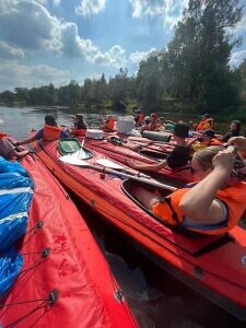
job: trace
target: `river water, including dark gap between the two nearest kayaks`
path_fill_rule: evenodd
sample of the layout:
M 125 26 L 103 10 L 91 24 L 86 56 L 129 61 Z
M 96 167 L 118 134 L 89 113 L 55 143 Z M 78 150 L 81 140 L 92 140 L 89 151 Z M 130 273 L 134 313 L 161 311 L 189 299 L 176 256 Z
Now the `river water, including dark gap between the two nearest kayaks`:
M 31 129 L 44 125 L 46 114 L 56 115 L 58 124 L 70 126 L 68 108 L 0 107 L 0 129 L 17 140 Z M 84 114 L 91 126 L 98 122 L 97 113 Z M 174 118 L 172 118 L 174 119 Z M 219 308 L 185 286 L 138 253 L 120 234 L 74 199 L 142 328 L 243 328 L 245 323 Z M 236 280 L 236 277 L 235 277 Z M 124 327 L 124 323 L 122 323 Z M 75 327 L 74 327 L 75 328 Z

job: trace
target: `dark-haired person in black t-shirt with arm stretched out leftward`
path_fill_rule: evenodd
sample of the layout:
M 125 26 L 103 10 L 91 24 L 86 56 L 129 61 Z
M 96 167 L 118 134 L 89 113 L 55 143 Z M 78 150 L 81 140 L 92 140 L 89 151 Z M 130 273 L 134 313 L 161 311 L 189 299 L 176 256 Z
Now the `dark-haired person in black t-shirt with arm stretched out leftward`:
M 186 143 L 185 138 L 188 137 L 189 127 L 185 122 L 176 124 L 174 127 L 173 138 L 176 142 L 174 149 L 166 156 L 166 159 L 157 164 L 136 165 L 133 162 L 128 161 L 128 165 L 139 171 L 156 172 L 165 166 L 171 168 L 179 168 L 185 166 L 190 160 L 190 150 Z

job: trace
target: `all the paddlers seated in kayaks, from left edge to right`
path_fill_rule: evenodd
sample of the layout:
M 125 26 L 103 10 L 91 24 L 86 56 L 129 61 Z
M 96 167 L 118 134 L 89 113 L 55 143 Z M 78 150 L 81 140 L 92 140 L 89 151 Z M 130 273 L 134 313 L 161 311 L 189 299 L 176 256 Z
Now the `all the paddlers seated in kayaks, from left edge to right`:
M 115 124 L 113 118 L 109 116 L 103 121 L 102 128 L 105 131 L 110 130 L 108 127 L 112 128 L 113 122 Z M 151 115 L 150 118 L 152 122 L 160 124 L 156 115 Z M 140 125 L 139 118 L 136 117 L 136 124 Z M 75 115 L 72 128 L 67 131 L 57 125 L 52 115 L 46 115 L 44 128 L 28 139 L 11 144 L 2 133 L 0 136 L 0 155 L 8 159 L 21 156 L 27 153 L 26 150 L 19 149 L 22 144 L 40 139 L 48 141 L 71 136 L 81 137 L 84 136 L 86 128 L 83 116 L 80 114 Z M 138 199 L 169 225 L 179 224 L 187 229 L 218 234 L 235 226 L 246 209 L 244 178 L 241 177 L 236 181 L 234 179 L 233 184 L 231 179 L 233 175 L 236 175 L 238 167 L 245 168 L 243 156 L 246 151 L 246 138 L 238 136 L 241 124 L 237 120 L 232 121 L 230 131 L 219 137 L 214 134 L 212 128 L 212 118 L 208 114 L 203 115 L 191 133 L 197 138 L 192 137 L 190 141 L 188 138 L 190 136 L 189 125 L 179 121 L 173 125 L 174 147 L 164 161 L 152 165 L 136 165 L 132 161 L 126 161 L 129 166 L 139 171 L 159 171 L 165 166 L 176 169 L 187 163 L 191 164 L 196 181 L 192 186 L 174 191 L 162 200 L 151 199 L 148 189 L 141 188 L 136 191 L 139 192 Z M 234 149 L 232 150 L 227 145 L 234 145 Z M 124 142 L 124 147 L 134 150 L 130 142 Z M 235 152 L 235 148 L 237 152 Z M 160 150 L 162 151 L 163 148 L 160 147 Z M 236 159 L 237 164 L 238 159 L 241 162 L 237 167 L 235 166 Z

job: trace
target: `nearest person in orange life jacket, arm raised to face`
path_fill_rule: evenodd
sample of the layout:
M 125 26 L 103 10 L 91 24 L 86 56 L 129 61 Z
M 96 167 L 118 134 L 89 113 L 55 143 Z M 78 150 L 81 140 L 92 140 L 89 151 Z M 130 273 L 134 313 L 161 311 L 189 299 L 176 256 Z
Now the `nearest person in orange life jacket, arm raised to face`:
M 134 196 L 167 225 L 210 235 L 232 230 L 246 210 L 246 183 L 227 184 L 234 168 L 232 150 L 206 148 L 195 153 L 191 165 L 196 184 L 162 199 L 142 187 Z

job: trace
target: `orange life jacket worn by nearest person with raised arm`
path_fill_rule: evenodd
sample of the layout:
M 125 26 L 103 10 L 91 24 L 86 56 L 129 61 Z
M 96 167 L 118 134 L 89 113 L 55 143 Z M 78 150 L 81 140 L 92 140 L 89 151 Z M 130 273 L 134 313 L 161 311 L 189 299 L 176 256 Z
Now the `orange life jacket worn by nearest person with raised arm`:
M 163 201 L 156 202 L 152 207 L 153 213 L 162 219 L 166 224 L 177 226 L 184 221 L 184 213 L 179 208 L 179 202 L 183 196 L 188 192 L 190 188 L 183 188 L 174 191 L 171 196 L 166 197 Z M 232 230 L 239 221 L 245 211 L 245 195 L 246 183 L 238 183 L 235 186 L 230 186 L 216 192 L 216 198 L 222 200 L 229 210 L 229 220 L 226 226 L 214 230 L 197 230 L 189 229 L 202 234 L 216 235 L 226 233 Z

